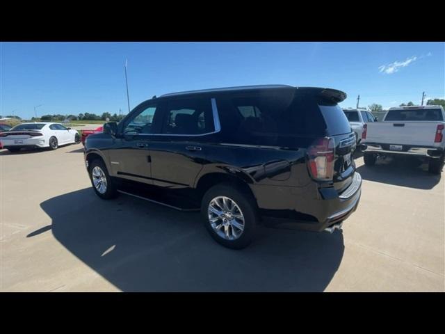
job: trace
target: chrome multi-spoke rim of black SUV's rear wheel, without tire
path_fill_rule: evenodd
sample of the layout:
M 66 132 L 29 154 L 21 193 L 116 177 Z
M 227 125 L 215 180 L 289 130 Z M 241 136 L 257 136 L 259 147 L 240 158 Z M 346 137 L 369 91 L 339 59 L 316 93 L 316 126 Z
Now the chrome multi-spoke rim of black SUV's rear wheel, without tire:
M 231 198 L 226 196 L 213 198 L 207 213 L 211 227 L 223 239 L 235 240 L 243 234 L 243 212 Z

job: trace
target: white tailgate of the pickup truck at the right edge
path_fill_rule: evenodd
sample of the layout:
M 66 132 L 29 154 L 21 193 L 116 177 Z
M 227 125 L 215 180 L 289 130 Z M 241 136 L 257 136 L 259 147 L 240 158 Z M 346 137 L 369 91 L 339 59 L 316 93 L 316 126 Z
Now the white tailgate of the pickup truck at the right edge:
M 364 143 L 439 146 L 434 143 L 437 125 L 443 122 L 370 122 Z

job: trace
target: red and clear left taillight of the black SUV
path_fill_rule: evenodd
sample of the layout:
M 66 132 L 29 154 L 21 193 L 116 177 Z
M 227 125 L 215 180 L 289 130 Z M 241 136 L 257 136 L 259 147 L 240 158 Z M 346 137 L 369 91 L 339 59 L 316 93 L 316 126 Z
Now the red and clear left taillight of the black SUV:
M 334 176 L 334 150 L 333 138 L 316 139 L 307 149 L 307 166 L 309 173 L 316 180 L 328 181 Z

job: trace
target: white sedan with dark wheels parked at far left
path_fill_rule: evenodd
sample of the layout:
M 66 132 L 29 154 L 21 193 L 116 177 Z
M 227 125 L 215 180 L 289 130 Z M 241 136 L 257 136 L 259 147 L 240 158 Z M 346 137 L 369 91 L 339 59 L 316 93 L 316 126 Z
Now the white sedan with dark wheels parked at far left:
M 81 136 L 70 127 L 58 123 L 35 122 L 16 125 L 8 132 L 0 133 L 3 148 L 18 152 L 22 148 L 50 148 L 60 145 L 80 143 Z

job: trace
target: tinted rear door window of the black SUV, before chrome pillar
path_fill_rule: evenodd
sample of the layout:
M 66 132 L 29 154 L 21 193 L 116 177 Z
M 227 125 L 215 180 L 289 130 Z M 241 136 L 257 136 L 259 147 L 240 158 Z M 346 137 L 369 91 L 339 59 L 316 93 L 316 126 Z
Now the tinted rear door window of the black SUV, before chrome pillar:
M 167 103 L 163 134 L 206 134 L 215 131 L 210 99 Z

